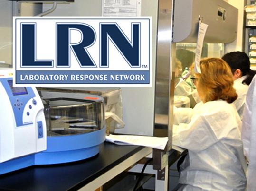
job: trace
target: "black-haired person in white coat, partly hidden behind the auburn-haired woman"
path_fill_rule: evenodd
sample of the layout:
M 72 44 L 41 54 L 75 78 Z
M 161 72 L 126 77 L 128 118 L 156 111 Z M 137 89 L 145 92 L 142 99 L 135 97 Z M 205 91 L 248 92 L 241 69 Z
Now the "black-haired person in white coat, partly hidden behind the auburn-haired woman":
M 238 95 L 234 104 L 242 119 L 248 86 L 256 71 L 250 69 L 250 59 L 245 52 L 229 52 L 225 54 L 222 59 L 226 61 L 231 68 L 234 79 L 234 88 Z

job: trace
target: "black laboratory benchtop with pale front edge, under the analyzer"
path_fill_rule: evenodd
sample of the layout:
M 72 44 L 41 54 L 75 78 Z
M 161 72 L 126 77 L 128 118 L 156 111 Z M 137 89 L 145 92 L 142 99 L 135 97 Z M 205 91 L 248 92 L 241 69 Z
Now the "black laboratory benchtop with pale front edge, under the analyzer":
M 0 190 L 93 191 L 120 174 L 152 148 L 104 142 L 98 155 L 61 165 L 38 165 L 0 175 Z

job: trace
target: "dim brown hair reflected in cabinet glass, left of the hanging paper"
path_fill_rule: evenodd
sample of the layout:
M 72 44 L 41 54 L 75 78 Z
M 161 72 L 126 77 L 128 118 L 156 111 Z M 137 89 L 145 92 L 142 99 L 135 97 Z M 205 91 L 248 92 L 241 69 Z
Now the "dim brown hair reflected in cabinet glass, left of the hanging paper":
M 177 49 L 176 58 L 182 63 L 182 70 L 186 67 L 190 68 L 191 64 L 195 61 L 195 53 L 186 49 Z

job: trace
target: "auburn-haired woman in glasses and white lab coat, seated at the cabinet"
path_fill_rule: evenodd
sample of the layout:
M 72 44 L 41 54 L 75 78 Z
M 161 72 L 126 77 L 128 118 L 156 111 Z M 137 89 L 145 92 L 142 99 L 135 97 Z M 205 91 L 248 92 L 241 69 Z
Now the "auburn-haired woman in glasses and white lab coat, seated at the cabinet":
M 246 161 L 232 73 L 219 58 L 200 61 L 192 77 L 202 102 L 174 108 L 173 145 L 188 149 L 178 191 L 245 191 Z

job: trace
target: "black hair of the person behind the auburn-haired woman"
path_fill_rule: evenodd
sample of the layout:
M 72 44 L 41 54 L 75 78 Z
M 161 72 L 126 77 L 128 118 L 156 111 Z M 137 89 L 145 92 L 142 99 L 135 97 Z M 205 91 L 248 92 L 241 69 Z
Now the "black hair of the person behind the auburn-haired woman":
M 245 52 L 229 52 L 222 57 L 222 60 L 228 63 L 232 73 L 240 69 L 242 76 L 247 75 L 247 78 L 242 82 L 243 84 L 249 85 L 251 83 L 256 71 L 250 69 L 250 58 Z

